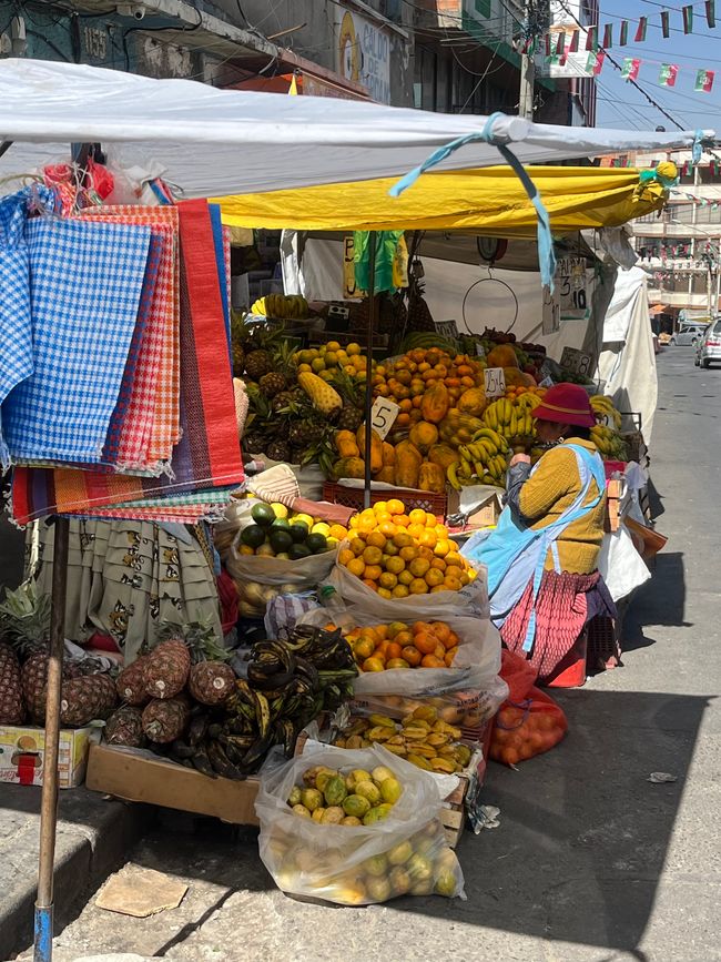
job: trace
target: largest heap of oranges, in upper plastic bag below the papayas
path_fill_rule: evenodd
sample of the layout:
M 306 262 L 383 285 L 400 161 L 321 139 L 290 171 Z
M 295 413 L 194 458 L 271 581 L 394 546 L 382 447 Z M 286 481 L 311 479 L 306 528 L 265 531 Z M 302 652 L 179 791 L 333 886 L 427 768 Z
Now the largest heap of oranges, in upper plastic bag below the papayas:
M 338 563 L 382 598 L 459 591 L 475 577 L 435 515 L 378 502 L 351 518 Z

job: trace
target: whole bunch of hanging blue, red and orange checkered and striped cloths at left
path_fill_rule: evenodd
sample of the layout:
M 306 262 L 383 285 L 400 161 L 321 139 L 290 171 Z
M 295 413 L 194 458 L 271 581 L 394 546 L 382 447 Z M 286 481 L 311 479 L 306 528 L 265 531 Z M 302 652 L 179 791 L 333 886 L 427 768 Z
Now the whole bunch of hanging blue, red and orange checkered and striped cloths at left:
M 12 514 L 194 524 L 243 482 L 220 212 L 0 201 L 0 458 Z

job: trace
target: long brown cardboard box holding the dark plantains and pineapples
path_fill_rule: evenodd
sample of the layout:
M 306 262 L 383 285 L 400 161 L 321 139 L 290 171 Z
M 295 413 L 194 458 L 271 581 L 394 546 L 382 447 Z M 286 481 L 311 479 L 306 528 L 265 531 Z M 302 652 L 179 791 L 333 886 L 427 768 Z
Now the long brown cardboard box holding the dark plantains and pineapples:
M 260 780 L 209 778 L 200 771 L 133 748 L 93 745 L 85 787 L 128 801 L 214 816 L 238 826 L 257 826 Z

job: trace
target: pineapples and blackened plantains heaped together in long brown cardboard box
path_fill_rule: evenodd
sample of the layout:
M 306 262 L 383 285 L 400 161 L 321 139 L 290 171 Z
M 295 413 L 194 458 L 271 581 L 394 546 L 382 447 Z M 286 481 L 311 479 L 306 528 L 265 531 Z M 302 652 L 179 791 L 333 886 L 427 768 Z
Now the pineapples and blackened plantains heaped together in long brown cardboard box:
M 148 745 L 204 774 L 244 779 L 274 745 L 293 755 L 298 731 L 353 692 L 357 668 L 339 631 L 297 628 L 287 641 L 258 642 L 247 679 L 207 632 L 169 635 L 119 675 L 109 745 Z

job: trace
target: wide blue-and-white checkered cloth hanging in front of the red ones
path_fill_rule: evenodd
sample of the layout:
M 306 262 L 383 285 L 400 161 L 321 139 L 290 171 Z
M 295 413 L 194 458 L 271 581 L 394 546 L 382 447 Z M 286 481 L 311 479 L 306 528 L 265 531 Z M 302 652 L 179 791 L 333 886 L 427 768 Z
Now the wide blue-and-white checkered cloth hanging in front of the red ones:
M 150 237 L 149 226 L 27 221 L 34 371 L 2 405 L 13 460 L 100 460 Z

